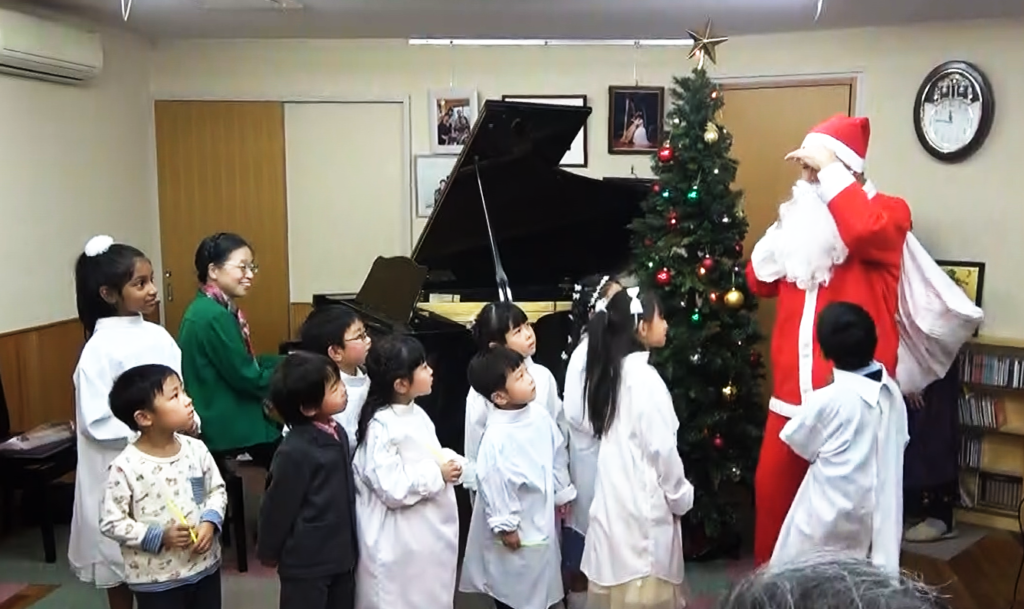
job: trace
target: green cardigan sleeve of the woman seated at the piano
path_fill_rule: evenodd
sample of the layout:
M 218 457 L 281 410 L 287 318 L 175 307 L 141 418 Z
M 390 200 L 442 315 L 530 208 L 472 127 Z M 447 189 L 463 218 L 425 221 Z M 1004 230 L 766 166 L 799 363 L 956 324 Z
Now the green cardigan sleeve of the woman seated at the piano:
M 207 328 L 197 333 L 197 341 L 220 378 L 243 395 L 266 397 L 275 365 L 261 365 L 249 353 L 238 321 L 227 311 L 208 319 Z

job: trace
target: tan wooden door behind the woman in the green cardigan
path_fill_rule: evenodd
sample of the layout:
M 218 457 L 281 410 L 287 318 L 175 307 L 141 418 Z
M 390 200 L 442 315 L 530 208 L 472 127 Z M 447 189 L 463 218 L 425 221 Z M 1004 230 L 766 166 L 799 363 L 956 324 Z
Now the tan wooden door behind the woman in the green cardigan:
M 155 115 L 167 329 L 177 335 L 195 297 L 200 241 L 237 232 L 260 267 L 240 303 L 253 347 L 276 353 L 289 321 L 284 104 L 157 101 Z

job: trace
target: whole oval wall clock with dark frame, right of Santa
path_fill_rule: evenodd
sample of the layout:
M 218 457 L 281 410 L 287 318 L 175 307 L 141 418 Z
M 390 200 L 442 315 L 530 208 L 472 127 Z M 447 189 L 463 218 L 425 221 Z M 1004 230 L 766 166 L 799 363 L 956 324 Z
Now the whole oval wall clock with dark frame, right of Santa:
M 967 61 L 946 61 L 928 73 L 913 102 L 918 140 L 943 163 L 958 163 L 977 153 L 994 118 L 992 86 Z

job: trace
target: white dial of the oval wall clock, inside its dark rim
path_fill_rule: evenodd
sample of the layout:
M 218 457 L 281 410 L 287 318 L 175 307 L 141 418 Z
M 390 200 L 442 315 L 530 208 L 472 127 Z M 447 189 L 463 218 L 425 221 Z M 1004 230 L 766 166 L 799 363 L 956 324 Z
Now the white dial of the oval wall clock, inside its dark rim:
M 981 127 L 981 92 L 967 74 L 950 71 L 933 80 L 921 105 L 921 125 L 928 142 L 940 153 L 955 153 Z

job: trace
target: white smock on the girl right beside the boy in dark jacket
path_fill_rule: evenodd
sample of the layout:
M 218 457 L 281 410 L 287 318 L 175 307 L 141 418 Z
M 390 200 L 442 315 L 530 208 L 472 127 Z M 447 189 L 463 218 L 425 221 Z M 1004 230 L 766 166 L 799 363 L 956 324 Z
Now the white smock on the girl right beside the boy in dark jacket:
M 355 449 L 356 609 L 442 609 L 455 600 L 459 509 L 441 448 L 420 406 L 378 410 Z

